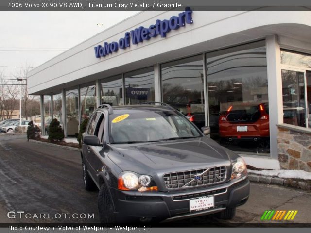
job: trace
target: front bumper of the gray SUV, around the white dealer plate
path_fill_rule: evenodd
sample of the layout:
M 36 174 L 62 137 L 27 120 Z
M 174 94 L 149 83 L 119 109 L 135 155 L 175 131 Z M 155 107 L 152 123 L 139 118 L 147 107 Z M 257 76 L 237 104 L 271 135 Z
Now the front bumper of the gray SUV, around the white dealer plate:
M 212 187 L 200 187 L 172 192 L 131 192 L 111 188 L 115 214 L 120 222 L 171 221 L 217 213 L 226 208 L 244 204 L 249 197 L 247 178 L 230 181 Z M 214 207 L 189 211 L 190 199 L 214 196 Z

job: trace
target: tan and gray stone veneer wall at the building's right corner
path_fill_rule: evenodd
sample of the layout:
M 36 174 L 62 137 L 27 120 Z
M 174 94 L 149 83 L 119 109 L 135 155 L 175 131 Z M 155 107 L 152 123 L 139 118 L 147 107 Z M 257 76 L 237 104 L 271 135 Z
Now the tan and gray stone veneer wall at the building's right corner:
M 279 124 L 277 129 L 277 151 L 281 169 L 311 172 L 311 130 L 289 124 Z

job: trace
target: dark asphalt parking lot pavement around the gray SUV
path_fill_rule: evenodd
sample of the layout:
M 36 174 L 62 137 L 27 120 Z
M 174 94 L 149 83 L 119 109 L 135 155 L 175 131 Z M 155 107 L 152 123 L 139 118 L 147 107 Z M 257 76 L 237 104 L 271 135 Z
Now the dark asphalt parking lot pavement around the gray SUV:
M 0 222 L 98 222 L 97 194 L 83 188 L 78 151 L 27 142 L 25 135 L 0 137 Z M 291 222 L 311 222 L 311 193 L 276 185 L 251 183 L 248 202 L 228 223 L 258 223 L 265 210 L 298 210 Z M 8 219 L 8 211 L 34 214 L 69 213 L 66 219 Z M 93 214 L 73 219 L 72 214 Z M 77 217 L 77 215 L 74 215 Z M 82 215 L 83 217 L 84 215 Z M 69 218 L 70 217 L 70 218 Z M 203 216 L 182 223 L 202 225 Z M 285 221 L 283 221 L 285 222 Z M 175 222 L 178 223 L 178 222 Z

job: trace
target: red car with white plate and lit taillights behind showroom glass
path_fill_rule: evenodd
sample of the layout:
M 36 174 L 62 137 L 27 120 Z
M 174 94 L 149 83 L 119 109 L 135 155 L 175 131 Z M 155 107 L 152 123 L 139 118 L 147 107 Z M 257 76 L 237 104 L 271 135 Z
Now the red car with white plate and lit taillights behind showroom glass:
M 230 105 L 218 122 L 222 141 L 269 141 L 268 103 Z

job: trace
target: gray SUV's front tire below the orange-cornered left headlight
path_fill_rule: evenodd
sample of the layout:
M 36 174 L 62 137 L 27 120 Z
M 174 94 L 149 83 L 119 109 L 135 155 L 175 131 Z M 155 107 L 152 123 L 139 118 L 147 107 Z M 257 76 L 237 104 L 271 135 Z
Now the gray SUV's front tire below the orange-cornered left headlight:
M 101 223 L 115 223 L 113 203 L 106 185 L 102 185 L 98 193 L 98 212 Z

